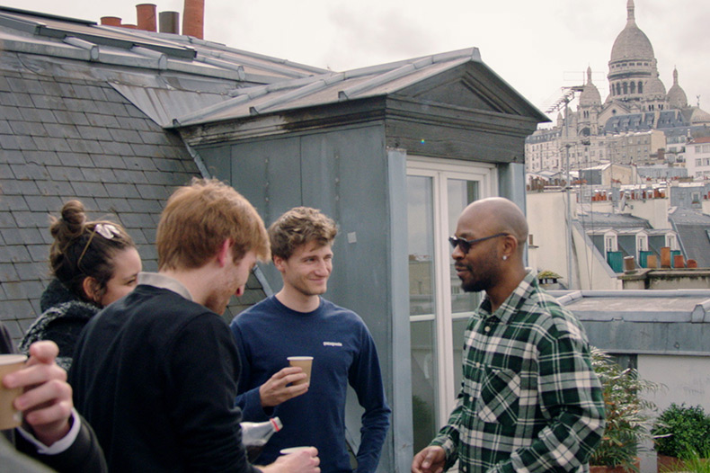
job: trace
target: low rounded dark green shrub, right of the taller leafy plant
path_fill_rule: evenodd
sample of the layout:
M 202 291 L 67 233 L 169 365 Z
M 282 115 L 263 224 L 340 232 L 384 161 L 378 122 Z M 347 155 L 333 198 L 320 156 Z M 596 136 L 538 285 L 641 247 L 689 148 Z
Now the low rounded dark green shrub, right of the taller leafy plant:
M 710 415 L 702 406 L 671 404 L 661 412 L 651 433 L 659 455 L 682 458 L 691 452 L 710 452 Z

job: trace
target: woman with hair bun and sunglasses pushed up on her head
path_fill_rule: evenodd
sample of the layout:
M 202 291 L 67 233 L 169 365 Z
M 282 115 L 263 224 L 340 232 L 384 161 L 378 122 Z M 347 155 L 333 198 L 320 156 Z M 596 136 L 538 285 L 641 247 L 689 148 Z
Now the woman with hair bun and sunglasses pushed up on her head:
M 128 294 L 142 265 L 136 245 L 118 223 L 86 221 L 84 204 L 67 201 L 61 218 L 51 217 L 49 267 L 54 279 L 42 293 L 42 315 L 30 326 L 20 350 L 38 340 L 59 346 L 57 363 L 69 370 L 84 325 L 101 308 Z

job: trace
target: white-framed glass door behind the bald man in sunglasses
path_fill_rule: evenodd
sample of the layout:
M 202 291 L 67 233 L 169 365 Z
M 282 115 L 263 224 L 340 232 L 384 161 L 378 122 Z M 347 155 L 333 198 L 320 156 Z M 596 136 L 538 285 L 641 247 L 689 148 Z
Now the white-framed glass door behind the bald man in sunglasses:
M 470 202 L 495 195 L 495 167 L 407 162 L 414 452 L 446 423 L 461 384 L 466 321 L 479 295 L 460 289 L 448 236 Z

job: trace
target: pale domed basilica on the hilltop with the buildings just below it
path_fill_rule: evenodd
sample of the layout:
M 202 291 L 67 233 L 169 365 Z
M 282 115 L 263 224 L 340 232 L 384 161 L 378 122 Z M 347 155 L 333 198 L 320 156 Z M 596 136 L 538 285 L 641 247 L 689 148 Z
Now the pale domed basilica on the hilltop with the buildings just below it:
M 604 102 L 591 68 L 584 85 L 567 88 L 555 127 L 538 129 L 526 140 L 528 173 L 566 169 L 568 158 L 571 169 L 605 163 L 682 165 L 685 143 L 694 132 L 707 130 L 710 114 L 688 105 L 678 69 L 666 92 L 651 40 L 636 24 L 634 0 L 627 0 L 626 26 L 611 48 L 607 77 Z M 564 106 L 572 93 L 579 94 L 576 112 Z

